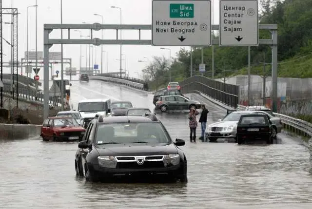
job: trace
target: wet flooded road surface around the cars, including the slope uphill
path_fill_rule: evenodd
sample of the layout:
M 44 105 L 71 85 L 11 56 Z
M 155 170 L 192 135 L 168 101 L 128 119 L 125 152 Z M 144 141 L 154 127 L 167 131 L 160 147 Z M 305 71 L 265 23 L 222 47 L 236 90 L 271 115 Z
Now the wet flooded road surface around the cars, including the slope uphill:
M 73 82 L 72 101 L 122 99 L 154 108 L 152 94 L 91 81 Z M 209 108 L 209 121 L 225 111 L 198 95 Z M 75 107 L 76 105 L 76 107 Z M 187 185 L 101 184 L 76 177 L 78 143 L 43 142 L 40 137 L 0 141 L 1 209 L 311 209 L 312 164 L 298 141 L 242 145 L 189 142 L 186 114 L 157 114 L 188 159 Z M 197 128 L 197 135 L 200 129 Z M 282 135 L 283 136 L 283 135 Z M 283 143 L 285 140 L 285 143 Z

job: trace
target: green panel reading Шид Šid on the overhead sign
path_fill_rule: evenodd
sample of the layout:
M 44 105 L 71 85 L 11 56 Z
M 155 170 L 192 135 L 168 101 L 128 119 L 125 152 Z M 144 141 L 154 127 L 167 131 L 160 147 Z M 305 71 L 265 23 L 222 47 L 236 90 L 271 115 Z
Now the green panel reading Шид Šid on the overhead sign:
M 171 3 L 170 18 L 194 18 L 194 4 Z

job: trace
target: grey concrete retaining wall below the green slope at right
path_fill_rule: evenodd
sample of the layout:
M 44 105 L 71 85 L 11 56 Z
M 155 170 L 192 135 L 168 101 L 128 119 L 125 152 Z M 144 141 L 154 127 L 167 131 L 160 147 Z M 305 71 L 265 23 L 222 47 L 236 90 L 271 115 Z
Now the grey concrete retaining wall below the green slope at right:
M 223 81 L 223 79 L 216 79 Z M 246 105 L 248 76 L 238 75 L 226 79 L 226 83 L 239 85 L 239 103 Z M 263 78 L 251 76 L 251 105 L 263 105 Z M 312 78 L 279 77 L 277 84 L 278 112 L 281 114 L 312 114 Z M 266 78 L 266 105 L 271 107 L 272 78 Z

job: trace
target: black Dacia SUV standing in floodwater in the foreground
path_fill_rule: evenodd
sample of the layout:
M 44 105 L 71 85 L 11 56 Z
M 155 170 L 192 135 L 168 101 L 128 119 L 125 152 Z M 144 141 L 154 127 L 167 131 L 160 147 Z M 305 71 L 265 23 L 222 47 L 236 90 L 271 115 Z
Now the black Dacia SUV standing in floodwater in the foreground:
M 102 117 L 96 115 L 79 142 L 78 176 L 91 182 L 165 180 L 186 183 L 184 140 L 172 141 L 155 114 Z

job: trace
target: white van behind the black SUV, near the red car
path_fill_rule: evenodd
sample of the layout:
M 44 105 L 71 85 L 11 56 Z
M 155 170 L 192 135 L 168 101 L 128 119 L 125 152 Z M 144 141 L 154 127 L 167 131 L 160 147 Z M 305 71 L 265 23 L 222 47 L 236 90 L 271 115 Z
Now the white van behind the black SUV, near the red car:
M 85 99 L 78 103 L 78 111 L 81 114 L 81 125 L 87 128 L 90 121 L 96 116 L 101 114 L 106 116 L 107 110 L 111 107 L 110 99 Z

